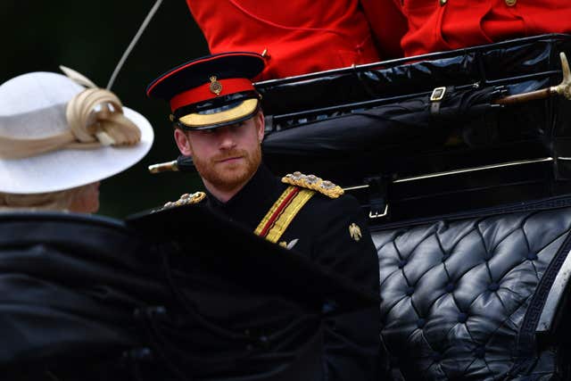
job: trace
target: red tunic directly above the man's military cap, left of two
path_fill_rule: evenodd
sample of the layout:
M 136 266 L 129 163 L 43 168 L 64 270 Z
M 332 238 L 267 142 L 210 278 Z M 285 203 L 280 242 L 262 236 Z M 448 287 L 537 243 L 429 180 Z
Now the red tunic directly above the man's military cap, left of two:
M 261 78 L 377 62 L 358 0 L 186 0 L 212 54 L 262 54 Z

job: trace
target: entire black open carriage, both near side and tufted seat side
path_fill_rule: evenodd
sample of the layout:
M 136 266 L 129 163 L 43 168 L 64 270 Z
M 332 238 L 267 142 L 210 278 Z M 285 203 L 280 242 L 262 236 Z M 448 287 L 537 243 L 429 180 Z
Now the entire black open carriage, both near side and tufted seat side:
M 561 52 L 571 37 L 546 35 L 256 84 L 269 167 L 329 178 L 369 217 L 385 377 L 571 377 L 571 107 L 549 89 L 565 71 Z M 378 302 L 239 230 L 209 239 L 227 222 L 207 211 L 168 212 L 158 225 L 147 223 L 153 215 L 0 216 L 6 374 L 208 379 L 210 369 L 252 366 L 261 336 L 239 338 L 251 342 L 238 356 L 222 342 L 204 356 L 185 351 L 196 327 L 228 334 L 195 313 L 194 269 L 245 294 L 263 284 L 303 311 Z M 286 335 L 305 335 L 311 319 Z M 303 360 L 271 359 L 264 379 L 302 379 L 280 361 Z

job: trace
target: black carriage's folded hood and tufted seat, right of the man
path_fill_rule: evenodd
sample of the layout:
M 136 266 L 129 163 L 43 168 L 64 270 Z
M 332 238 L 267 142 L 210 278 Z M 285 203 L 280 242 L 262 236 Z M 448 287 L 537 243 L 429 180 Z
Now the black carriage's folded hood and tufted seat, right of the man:
M 571 377 L 571 113 L 541 91 L 568 87 L 570 43 L 531 37 L 259 84 L 266 160 L 332 178 L 368 213 L 393 377 Z

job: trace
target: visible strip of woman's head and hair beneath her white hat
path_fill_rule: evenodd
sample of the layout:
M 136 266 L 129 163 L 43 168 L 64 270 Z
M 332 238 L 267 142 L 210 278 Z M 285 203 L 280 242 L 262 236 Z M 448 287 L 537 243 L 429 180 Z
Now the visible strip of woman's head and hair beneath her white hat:
M 84 186 L 33 195 L 16 195 L 0 192 L 0 211 L 35 209 L 65 211 Z

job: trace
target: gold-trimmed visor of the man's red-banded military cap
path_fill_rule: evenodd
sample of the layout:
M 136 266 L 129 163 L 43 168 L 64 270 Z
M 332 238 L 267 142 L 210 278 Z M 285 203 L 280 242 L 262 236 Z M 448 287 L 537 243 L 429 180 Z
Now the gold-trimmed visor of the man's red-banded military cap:
M 178 122 L 180 127 L 191 131 L 219 128 L 250 119 L 259 108 L 260 101 L 257 98 L 249 98 L 237 104 L 236 107 L 221 112 L 186 114 L 179 117 Z

